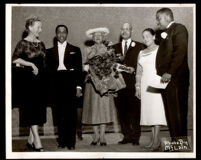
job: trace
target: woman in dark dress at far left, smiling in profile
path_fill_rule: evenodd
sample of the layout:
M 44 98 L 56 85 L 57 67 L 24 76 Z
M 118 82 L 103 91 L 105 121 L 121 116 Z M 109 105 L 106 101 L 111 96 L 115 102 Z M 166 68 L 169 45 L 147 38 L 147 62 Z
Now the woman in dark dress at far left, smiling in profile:
M 38 133 L 38 125 L 46 122 L 46 108 L 43 94 L 43 72 L 45 45 L 38 39 L 42 23 L 37 17 L 26 21 L 25 38 L 18 42 L 12 56 L 12 63 L 24 69 L 23 78 L 27 81 L 21 86 L 23 103 L 21 104 L 20 119 L 25 126 L 30 127 L 27 147 L 35 151 L 43 151 Z

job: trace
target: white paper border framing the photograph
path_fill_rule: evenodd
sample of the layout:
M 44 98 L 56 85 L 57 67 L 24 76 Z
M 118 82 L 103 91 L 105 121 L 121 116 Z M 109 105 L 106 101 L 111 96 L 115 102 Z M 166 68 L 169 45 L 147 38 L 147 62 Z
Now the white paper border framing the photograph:
M 11 24 L 12 7 L 192 7 L 193 8 L 193 152 L 12 152 Z M 196 4 L 6 4 L 6 158 L 195 158 L 196 157 Z

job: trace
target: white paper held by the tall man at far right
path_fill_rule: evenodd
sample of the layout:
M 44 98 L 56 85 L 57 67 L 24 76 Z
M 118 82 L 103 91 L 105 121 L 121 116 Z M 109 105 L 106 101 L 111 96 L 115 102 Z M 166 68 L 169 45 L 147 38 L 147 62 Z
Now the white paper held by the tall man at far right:
M 168 82 L 169 83 L 169 82 Z M 155 75 L 149 82 L 149 86 L 158 89 L 165 89 L 168 83 L 161 82 L 161 76 Z

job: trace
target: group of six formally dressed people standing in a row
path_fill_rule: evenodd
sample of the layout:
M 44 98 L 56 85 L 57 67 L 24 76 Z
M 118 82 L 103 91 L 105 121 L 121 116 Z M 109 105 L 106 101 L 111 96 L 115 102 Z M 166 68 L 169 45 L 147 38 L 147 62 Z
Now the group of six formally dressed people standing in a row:
M 95 28 L 86 32 L 94 45 L 87 47 L 81 54 L 78 47 L 67 42 L 68 28 L 56 27 L 56 43 L 47 49 L 39 40 L 42 23 L 37 17 L 26 21 L 26 36 L 17 44 L 12 62 L 17 67 L 27 68 L 29 90 L 25 92 L 22 111 L 30 135 L 27 147 L 43 151 L 39 138 L 38 125 L 46 122 L 44 102 L 45 84 L 50 84 L 48 95 L 51 97 L 54 112 L 57 115 L 58 147 L 75 149 L 76 144 L 76 98 L 83 96 L 82 123 L 92 125 L 94 136 L 91 145 L 107 145 L 106 124 L 116 121 L 117 117 L 124 138 L 119 144 L 139 145 L 141 125 L 152 127 L 151 142 L 145 146 L 156 150 L 160 146 L 159 131 L 161 125 L 168 125 L 170 136 L 187 136 L 187 108 L 189 69 L 187 64 L 188 32 L 184 25 L 174 22 L 169 8 L 156 13 L 160 43 L 156 44 L 156 32 L 147 28 L 142 32 L 143 43 L 131 39 L 131 24 L 122 25 L 122 41 L 112 45 L 115 54 L 121 54 L 122 65 L 134 72 L 117 69 L 123 76 L 126 87 L 117 91 L 117 95 L 101 95 L 90 78 L 91 66 L 88 60 L 105 49 L 107 28 Z M 92 51 L 96 52 L 92 52 Z M 44 76 L 45 75 L 45 76 Z M 161 83 L 168 83 L 165 89 L 149 86 L 155 76 L 161 76 Z M 48 78 L 47 78 L 48 77 Z M 84 85 L 83 85 L 84 84 Z M 49 89 L 48 87 L 46 88 Z

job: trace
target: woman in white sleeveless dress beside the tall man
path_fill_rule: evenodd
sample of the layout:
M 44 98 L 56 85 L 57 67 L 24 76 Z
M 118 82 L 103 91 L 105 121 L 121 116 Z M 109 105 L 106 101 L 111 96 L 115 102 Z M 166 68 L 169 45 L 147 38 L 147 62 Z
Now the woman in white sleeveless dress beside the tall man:
M 152 128 L 151 142 L 145 148 L 153 151 L 160 146 L 160 126 L 166 126 L 167 122 L 160 89 L 149 86 L 157 76 L 155 63 L 158 45 L 155 44 L 155 32 L 147 28 L 142 32 L 142 36 L 147 48 L 142 50 L 138 57 L 135 86 L 136 96 L 141 99 L 140 125 Z

